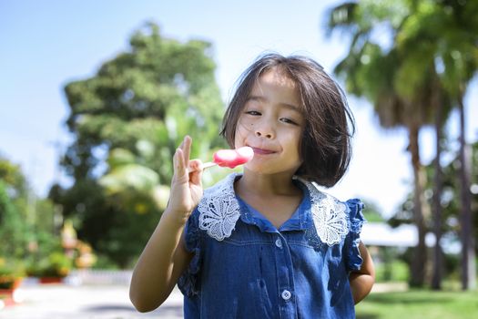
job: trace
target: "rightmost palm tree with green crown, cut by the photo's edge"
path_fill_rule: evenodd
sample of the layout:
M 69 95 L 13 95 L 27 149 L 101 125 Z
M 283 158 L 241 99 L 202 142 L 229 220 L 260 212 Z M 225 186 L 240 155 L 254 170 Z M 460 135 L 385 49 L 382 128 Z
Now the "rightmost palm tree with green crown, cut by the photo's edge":
M 476 268 L 470 192 L 471 155 L 465 138 L 463 97 L 478 69 L 478 2 L 443 0 L 437 6 L 443 12 L 441 25 L 446 31 L 437 52 L 443 61 L 442 83 L 460 114 L 462 288 L 467 290 L 476 286 Z

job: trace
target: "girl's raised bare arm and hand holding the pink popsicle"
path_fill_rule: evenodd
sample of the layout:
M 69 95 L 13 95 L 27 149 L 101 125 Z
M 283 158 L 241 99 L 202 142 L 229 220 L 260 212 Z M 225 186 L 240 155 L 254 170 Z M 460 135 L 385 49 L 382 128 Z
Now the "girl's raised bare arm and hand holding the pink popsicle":
M 158 308 L 168 298 L 192 257 L 185 249 L 183 231 L 203 190 L 201 162 L 189 161 L 190 146 L 191 139 L 186 137 L 174 154 L 168 208 L 133 271 L 129 298 L 142 313 Z

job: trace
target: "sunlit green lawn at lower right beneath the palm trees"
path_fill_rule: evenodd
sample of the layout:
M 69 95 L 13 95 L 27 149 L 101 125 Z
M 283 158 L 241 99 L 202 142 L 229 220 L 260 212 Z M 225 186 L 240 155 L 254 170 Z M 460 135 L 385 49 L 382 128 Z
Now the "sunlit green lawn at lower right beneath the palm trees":
M 371 293 L 355 311 L 358 319 L 474 319 L 478 292 Z

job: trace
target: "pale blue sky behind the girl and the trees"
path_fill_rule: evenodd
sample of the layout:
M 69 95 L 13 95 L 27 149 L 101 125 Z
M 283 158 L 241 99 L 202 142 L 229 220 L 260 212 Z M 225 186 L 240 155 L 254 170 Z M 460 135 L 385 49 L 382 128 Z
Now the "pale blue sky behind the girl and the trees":
M 164 36 L 208 40 L 225 101 L 237 77 L 265 50 L 315 58 L 331 72 L 348 40 L 326 38 L 325 13 L 341 1 L 0 1 L 0 153 L 22 166 L 44 196 L 56 179 L 58 148 L 70 136 L 63 87 L 92 77 L 107 59 L 127 49 L 146 21 Z M 467 137 L 478 135 L 477 81 L 466 97 Z M 357 124 L 354 156 L 332 195 L 376 202 L 385 215 L 404 199 L 412 181 L 406 131 L 383 130 L 371 105 L 349 96 Z M 456 115 L 447 129 L 457 137 Z M 432 129 L 422 131 L 422 160 L 434 154 Z M 205 159 L 207 160 L 207 159 Z

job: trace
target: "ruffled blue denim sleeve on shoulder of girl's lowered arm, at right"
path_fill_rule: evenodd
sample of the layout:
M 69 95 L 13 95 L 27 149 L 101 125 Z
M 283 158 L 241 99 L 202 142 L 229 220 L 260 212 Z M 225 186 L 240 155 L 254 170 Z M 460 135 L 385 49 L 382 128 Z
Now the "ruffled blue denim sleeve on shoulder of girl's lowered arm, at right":
M 352 199 L 346 202 L 348 206 L 349 233 L 347 235 L 347 269 L 349 272 L 361 269 L 361 252 L 359 243 L 361 242 L 361 226 L 365 221 L 362 209 L 363 203 L 360 200 Z

